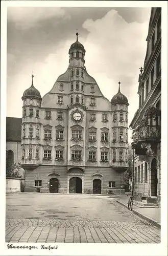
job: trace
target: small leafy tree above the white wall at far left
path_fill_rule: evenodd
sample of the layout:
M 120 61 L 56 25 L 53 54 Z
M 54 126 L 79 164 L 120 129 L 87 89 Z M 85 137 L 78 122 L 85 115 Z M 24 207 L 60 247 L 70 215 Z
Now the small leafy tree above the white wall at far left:
M 6 177 L 21 178 L 19 170 L 21 169 L 20 163 L 7 162 L 6 163 Z

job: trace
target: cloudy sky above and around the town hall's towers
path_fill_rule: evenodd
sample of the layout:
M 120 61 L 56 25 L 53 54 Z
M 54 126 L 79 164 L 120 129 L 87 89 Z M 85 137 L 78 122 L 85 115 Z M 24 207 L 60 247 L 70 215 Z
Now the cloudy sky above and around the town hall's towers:
M 87 72 L 109 100 L 121 81 L 131 122 L 138 108 L 138 75 L 150 12 L 151 8 L 8 7 L 7 116 L 22 116 L 21 96 L 31 86 L 32 71 L 41 96 L 52 89 L 68 67 L 68 50 L 78 29 Z

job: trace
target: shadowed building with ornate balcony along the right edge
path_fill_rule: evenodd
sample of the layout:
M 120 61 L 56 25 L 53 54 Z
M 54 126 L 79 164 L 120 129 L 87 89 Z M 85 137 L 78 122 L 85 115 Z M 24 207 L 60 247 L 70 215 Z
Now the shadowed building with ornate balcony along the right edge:
M 133 131 L 134 197 L 160 203 L 161 195 L 161 8 L 152 8 L 147 53 L 139 75 L 139 109 Z M 149 200 L 150 201 L 150 200 Z

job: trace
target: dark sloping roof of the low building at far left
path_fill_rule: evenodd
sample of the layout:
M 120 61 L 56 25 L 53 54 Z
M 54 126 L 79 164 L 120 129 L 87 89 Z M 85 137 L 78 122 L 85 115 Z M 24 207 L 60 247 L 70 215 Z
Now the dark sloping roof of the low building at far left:
M 21 141 L 21 118 L 7 117 L 6 141 Z

